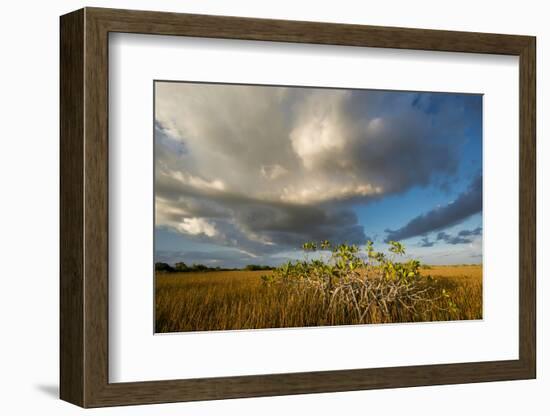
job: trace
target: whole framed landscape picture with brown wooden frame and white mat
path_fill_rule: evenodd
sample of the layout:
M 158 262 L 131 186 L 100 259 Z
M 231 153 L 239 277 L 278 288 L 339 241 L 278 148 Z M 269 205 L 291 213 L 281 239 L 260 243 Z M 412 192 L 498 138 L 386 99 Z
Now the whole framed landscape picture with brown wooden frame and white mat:
M 535 51 L 62 16 L 61 398 L 535 378 Z

